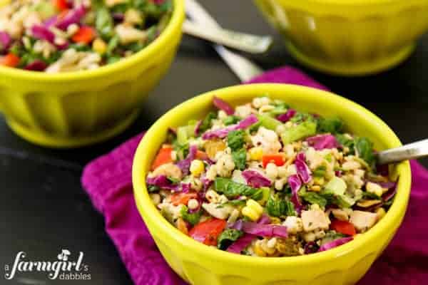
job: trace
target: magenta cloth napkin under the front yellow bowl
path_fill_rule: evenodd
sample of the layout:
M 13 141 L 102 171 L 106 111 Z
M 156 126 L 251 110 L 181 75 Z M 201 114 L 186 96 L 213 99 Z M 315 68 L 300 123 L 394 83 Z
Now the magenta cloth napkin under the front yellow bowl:
M 249 83 L 294 83 L 327 90 L 295 68 L 268 71 Z M 181 285 L 158 251 L 133 199 L 131 166 L 143 135 L 98 157 L 83 170 L 82 184 L 105 217 L 106 232 L 116 245 L 136 285 Z M 412 161 L 412 194 L 402 226 L 359 285 L 413 285 L 428 280 L 428 170 Z M 201 284 L 203 285 L 203 284 Z

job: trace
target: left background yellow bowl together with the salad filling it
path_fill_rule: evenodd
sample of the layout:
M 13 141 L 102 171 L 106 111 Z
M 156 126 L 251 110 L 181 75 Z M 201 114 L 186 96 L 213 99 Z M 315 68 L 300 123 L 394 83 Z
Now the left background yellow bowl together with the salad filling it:
M 185 16 L 184 0 L 0 0 L 0 9 L 0 111 L 49 147 L 128 127 L 175 58 Z

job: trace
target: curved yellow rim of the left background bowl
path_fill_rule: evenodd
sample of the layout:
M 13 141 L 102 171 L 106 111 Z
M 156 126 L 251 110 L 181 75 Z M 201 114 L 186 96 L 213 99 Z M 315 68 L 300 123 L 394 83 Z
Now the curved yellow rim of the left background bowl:
M 94 78 L 97 76 L 103 76 L 111 72 L 118 70 L 126 70 L 139 62 L 144 62 L 145 59 L 156 56 L 156 53 L 161 50 L 163 46 L 168 46 L 170 38 L 173 38 L 174 33 L 179 31 L 181 33 L 181 24 L 185 17 L 184 11 L 184 0 L 173 0 L 173 14 L 171 19 L 166 26 L 165 30 L 150 43 L 146 48 L 143 48 L 138 53 L 129 56 L 128 58 L 123 58 L 117 63 L 111 63 L 106 66 L 101 66 L 100 68 L 93 69 L 91 71 L 71 71 L 66 73 L 45 73 L 39 71 L 26 71 L 19 68 L 10 68 L 6 66 L 0 66 L 0 76 L 9 75 L 15 76 L 19 79 L 26 80 L 37 80 L 37 81 L 68 81 L 68 80 L 80 80 Z M 1 2 L 0 2 L 1 4 Z M 1 5 L 0 5 L 1 6 Z

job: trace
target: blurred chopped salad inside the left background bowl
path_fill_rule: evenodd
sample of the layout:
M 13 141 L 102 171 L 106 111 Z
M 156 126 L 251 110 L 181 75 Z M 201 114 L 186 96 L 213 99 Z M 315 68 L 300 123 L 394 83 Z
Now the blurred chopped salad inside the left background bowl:
M 0 7 L 0 65 L 91 70 L 141 51 L 167 26 L 172 0 L 14 0 Z

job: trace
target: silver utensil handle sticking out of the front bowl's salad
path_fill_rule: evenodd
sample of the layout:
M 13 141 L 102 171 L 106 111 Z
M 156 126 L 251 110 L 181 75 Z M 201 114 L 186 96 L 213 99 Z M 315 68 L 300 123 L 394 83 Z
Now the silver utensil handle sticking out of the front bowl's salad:
M 384 165 L 391 162 L 400 162 L 403 160 L 412 160 L 414 158 L 428 155 L 428 139 L 412 142 L 408 145 L 384 150 L 377 153 L 379 164 Z

